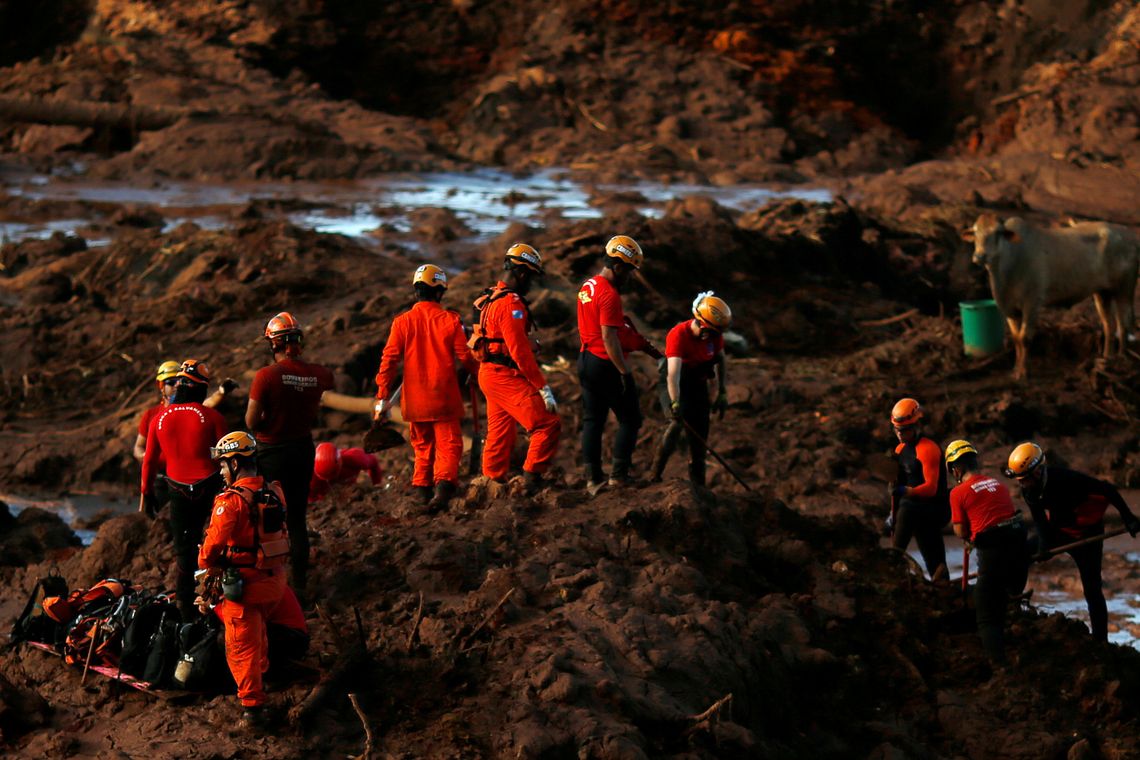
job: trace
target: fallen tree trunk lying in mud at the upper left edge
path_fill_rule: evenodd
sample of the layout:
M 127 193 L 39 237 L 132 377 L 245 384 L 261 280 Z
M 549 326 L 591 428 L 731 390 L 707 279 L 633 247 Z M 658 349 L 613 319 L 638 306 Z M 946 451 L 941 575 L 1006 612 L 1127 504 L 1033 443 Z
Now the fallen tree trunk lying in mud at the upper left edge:
M 195 113 L 186 108 L 131 106 L 123 103 L 87 100 L 33 100 L 0 97 L 0 120 L 34 122 L 54 126 L 111 126 L 158 130 Z

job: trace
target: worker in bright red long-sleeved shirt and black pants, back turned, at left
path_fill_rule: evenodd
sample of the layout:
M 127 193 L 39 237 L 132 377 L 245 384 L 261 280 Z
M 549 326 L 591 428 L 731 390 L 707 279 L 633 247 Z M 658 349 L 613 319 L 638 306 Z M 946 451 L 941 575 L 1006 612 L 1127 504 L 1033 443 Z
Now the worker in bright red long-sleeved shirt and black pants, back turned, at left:
M 174 544 L 178 578 L 174 583 L 182 618 L 194 608 L 194 553 L 210 514 L 210 504 L 221 489 L 221 475 L 210 459 L 210 447 L 226 433 L 226 419 L 203 406 L 210 385 L 210 368 L 187 359 L 178 369 L 178 384 L 165 410 L 150 420 L 142 457 L 139 512 L 156 513 L 156 481 L 165 460 L 170 498 L 170 532 Z

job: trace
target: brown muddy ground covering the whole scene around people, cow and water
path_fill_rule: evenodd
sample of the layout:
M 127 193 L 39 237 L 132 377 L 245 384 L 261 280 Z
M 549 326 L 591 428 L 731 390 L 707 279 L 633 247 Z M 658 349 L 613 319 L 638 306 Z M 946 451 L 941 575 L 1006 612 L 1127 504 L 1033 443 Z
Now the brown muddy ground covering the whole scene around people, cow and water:
M 1140 11 L 1092 1 L 374 5 L 0 5 L 0 96 L 177 117 L 140 130 L 137 115 L 31 124 L 3 112 L 0 172 L 145 185 L 494 164 L 561 166 L 584 182 L 809 182 L 837 198 L 743 213 L 689 198 L 652 219 L 598 194 L 602 220 L 552 218 L 489 243 L 425 211 L 413 231 L 385 231 L 392 245 L 377 252 L 292 226 L 262 202 L 204 229 L 164 226 L 158 209 L 5 196 L 5 219 L 91 221 L 0 247 L 6 490 L 132 493 L 153 366 L 204 358 L 247 387 L 268 358 L 263 324 L 282 309 L 301 318 L 308 356 L 336 370 L 337 390 L 369 394 L 388 325 L 410 303 L 410 244 L 424 240 L 462 262 L 447 303 L 464 312 L 506 245 L 543 252 L 549 275 L 532 301 L 567 431 L 535 499 L 475 482 L 427 517 L 397 450 L 383 457 L 385 488 L 343 488 L 314 508 L 307 590 L 329 619 L 310 621 L 314 662 L 337 679 L 310 720 L 285 719 L 310 685 L 275 693 L 279 729 L 251 739 L 234 729 L 233 698 L 81 688 L 58 662 L 16 649 L 0 655 L 7 752 L 359 753 L 352 692 L 390 757 L 1134 753 L 1137 652 L 1027 610 L 1012 620 L 1013 665 L 992 673 L 960 594 L 913 578 L 877 548 L 876 531 L 887 415 L 902 395 L 923 401 L 937 436 L 970 438 L 993 469 L 1033 436 L 1054 461 L 1140 485 L 1140 365 L 1093 358 L 1090 304 L 1045 313 L 1025 383 L 1010 379 L 1009 352 L 964 357 L 955 316 L 958 301 L 986 293 L 959 238 L 979 212 L 1140 222 Z M 8 32 L 11 19 L 34 33 Z M 754 491 L 718 465 L 710 489 L 694 490 L 675 458 L 662 484 L 585 498 L 573 293 L 614 232 L 646 251 L 646 284 L 626 309 L 659 344 L 694 288 L 732 304 L 742 341 L 710 442 Z M 648 389 L 656 368 L 635 361 Z M 244 401 L 239 392 L 223 408 L 235 426 Z M 651 393 L 643 406 L 645 467 L 663 424 Z M 365 427 L 327 412 L 317 435 L 356 444 Z M 5 615 L 51 566 L 81 585 L 108 573 L 170 580 L 163 521 L 109 520 L 87 549 L 48 522 L 25 513 L 0 548 Z M 1134 587 L 1124 561 L 1106 575 Z

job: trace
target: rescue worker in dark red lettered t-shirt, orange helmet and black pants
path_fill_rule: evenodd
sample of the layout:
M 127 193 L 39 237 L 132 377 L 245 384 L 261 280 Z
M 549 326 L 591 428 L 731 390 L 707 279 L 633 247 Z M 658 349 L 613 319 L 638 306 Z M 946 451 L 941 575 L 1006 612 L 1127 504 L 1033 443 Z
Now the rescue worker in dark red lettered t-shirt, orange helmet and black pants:
M 307 513 L 315 453 L 312 425 L 321 394 L 333 387 L 333 373 L 301 360 L 304 333 L 290 312 L 270 319 L 264 336 L 274 363 L 253 377 L 245 426 L 258 439 L 258 468 L 285 491 L 293 588 L 304 597 L 309 578 Z

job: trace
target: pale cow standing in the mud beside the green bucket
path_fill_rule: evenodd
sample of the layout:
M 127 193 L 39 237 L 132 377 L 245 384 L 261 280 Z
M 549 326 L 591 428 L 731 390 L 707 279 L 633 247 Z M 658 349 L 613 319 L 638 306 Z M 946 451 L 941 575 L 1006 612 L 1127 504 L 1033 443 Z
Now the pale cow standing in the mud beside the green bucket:
M 1134 341 L 1132 300 L 1140 245 L 1135 236 L 1107 222 L 1077 222 L 1045 229 L 1011 216 L 983 214 L 966 234 L 974 263 L 990 272 L 990 289 L 1013 337 L 1013 377 L 1025 377 L 1029 340 L 1042 307 L 1072 305 L 1090 295 L 1105 330 L 1105 358 L 1113 336 L 1124 351 Z

